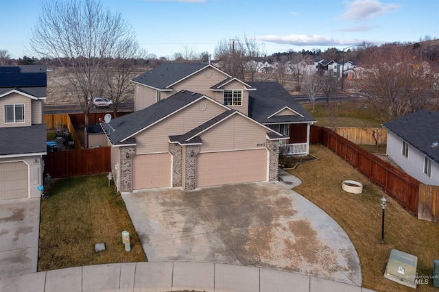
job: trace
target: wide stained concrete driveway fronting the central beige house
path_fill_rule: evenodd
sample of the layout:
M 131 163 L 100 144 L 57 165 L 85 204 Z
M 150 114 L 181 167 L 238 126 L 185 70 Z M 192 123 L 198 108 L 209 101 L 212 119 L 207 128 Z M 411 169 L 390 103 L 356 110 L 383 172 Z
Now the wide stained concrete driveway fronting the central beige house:
M 265 267 L 361 286 L 347 234 L 290 187 L 256 182 L 122 196 L 150 262 Z

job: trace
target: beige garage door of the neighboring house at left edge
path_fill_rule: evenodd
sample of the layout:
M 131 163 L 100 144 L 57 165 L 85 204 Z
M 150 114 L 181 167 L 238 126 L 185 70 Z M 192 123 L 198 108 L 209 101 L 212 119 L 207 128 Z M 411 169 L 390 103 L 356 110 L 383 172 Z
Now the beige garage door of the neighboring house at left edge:
M 0 163 L 0 199 L 29 197 L 25 162 Z

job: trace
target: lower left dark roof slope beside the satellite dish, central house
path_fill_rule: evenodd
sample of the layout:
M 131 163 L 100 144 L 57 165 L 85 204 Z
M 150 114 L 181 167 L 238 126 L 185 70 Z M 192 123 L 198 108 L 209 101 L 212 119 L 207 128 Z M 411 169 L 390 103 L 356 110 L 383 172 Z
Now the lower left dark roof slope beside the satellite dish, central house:
M 169 114 L 176 112 L 180 108 L 187 106 L 202 96 L 200 93 L 182 90 L 180 93 L 176 93 L 167 99 L 162 99 L 143 110 L 126 114 L 117 119 L 112 119 L 109 125 L 102 123 L 102 127 L 113 145 L 126 144 L 128 141 L 121 141 L 145 129 L 145 127 L 152 125 L 156 121 L 167 117 Z M 133 143 L 133 141 L 130 141 L 130 143 Z

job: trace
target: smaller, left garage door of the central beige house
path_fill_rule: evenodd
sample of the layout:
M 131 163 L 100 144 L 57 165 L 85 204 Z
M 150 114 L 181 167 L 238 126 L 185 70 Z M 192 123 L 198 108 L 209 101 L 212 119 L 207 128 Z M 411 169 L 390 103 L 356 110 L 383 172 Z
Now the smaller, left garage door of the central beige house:
M 132 159 L 132 189 L 171 186 L 171 154 L 143 154 Z

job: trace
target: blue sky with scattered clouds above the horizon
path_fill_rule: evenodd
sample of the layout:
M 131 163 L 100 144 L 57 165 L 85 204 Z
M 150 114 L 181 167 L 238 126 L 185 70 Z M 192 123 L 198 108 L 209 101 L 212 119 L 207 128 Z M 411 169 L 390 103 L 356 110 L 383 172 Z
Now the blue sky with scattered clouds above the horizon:
M 58 0 L 69 1 L 69 0 Z M 0 0 L 0 49 L 34 56 L 29 34 L 45 0 Z M 266 53 L 343 49 L 363 41 L 439 38 L 439 0 L 102 0 L 121 12 L 147 53 L 213 54 L 221 40 L 256 37 Z

